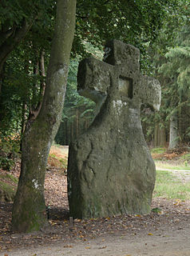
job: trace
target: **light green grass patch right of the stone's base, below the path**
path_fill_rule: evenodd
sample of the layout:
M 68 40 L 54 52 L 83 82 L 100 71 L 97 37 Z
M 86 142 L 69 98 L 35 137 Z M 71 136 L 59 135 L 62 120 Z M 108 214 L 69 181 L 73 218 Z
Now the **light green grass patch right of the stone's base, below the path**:
M 169 171 L 157 170 L 153 196 L 168 199 L 189 200 L 190 182 L 184 184 Z

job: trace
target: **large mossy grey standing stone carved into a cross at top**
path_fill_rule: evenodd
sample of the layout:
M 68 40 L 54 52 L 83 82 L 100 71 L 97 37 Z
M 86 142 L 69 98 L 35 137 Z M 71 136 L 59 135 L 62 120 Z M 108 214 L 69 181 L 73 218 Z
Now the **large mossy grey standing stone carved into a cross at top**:
M 69 147 L 68 194 L 74 218 L 148 214 L 155 165 L 141 128 L 142 102 L 160 106 L 160 83 L 140 74 L 137 48 L 113 40 L 104 62 L 86 58 L 77 81 L 97 103 L 89 130 Z

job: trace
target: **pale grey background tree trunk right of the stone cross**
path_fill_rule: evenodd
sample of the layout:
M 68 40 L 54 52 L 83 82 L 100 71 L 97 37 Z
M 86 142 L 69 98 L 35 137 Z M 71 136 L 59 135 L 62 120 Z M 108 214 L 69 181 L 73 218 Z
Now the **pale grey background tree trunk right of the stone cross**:
M 169 126 L 169 150 L 174 149 L 178 144 L 177 113 L 173 113 Z

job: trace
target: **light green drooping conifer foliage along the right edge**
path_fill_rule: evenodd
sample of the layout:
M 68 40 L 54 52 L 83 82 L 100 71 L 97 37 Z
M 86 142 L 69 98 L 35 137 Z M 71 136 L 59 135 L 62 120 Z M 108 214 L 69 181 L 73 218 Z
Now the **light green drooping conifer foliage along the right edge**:
M 164 86 L 164 108 L 168 108 L 166 120 L 172 114 L 187 110 L 190 106 L 190 30 L 189 22 L 182 27 L 176 38 L 176 46 L 168 48 L 165 62 L 159 72 L 167 83 Z M 168 100 L 169 95 L 169 100 Z M 184 136 L 188 138 L 186 126 Z

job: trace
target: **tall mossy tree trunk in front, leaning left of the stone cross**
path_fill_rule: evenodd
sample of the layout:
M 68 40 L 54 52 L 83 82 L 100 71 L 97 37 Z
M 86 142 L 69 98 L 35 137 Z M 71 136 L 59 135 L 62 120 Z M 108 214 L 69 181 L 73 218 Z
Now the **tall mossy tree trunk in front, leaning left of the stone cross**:
M 46 90 L 37 118 L 28 122 L 22 144 L 22 172 L 14 200 L 12 228 L 40 230 L 48 224 L 44 198 L 46 162 L 61 122 L 69 55 L 73 42 L 76 0 L 57 0 L 57 17 Z

